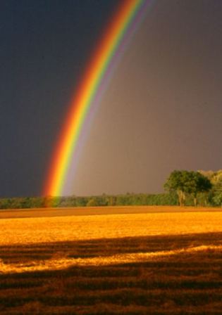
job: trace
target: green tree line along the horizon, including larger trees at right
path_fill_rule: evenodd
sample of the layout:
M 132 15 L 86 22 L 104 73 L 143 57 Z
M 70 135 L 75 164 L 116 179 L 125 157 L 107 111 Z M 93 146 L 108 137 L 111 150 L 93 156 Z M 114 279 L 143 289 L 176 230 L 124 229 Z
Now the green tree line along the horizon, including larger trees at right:
M 201 205 L 222 207 L 222 169 L 173 171 L 164 184 L 166 193 L 122 195 L 2 198 L 0 209 L 39 207 L 99 207 L 121 205 Z

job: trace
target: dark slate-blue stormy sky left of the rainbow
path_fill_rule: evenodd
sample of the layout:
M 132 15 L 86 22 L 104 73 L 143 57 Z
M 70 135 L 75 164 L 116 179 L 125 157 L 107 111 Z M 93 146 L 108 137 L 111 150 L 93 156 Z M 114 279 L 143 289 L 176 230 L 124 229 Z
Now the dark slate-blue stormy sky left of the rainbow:
M 117 2 L 1 2 L 1 196 L 42 193 L 73 89 Z

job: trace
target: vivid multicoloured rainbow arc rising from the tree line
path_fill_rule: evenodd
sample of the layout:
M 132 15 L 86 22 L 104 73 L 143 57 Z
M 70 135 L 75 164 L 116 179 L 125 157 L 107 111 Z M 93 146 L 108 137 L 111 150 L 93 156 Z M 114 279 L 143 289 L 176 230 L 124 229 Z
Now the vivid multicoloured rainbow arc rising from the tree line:
M 44 183 L 44 195 L 63 194 L 68 169 L 78 148 L 82 127 L 90 113 L 90 108 L 93 103 L 98 103 L 101 90 L 106 85 L 105 82 L 109 82 L 111 72 L 123 53 L 129 37 L 140 24 L 148 2 L 149 0 L 120 1 L 121 5 L 94 51 L 77 93 L 70 102 Z

